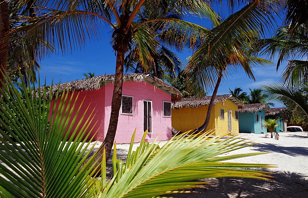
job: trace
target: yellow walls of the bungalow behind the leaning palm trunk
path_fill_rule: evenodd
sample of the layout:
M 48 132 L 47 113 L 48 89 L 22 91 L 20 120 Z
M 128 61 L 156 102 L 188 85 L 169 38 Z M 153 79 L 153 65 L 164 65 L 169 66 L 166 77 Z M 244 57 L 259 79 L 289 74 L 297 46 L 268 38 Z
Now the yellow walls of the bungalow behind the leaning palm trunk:
M 185 132 L 191 129 L 197 129 L 200 127 L 206 117 L 208 106 L 198 107 L 198 108 L 180 108 L 180 109 L 172 109 L 172 127 L 176 130 Z M 225 110 L 225 120 L 220 119 L 220 109 Z M 211 113 L 209 126 L 206 130 L 214 129 L 216 135 L 223 134 L 228 131 L 228 115 L 227 110 L 232 110 L 232 134 L 238 134 L 238 121 L 235 120 L 234 110 L 237 110 L 237 105 L 235 105 L 232 101 L 226 100 L 223 102 L 220 101 L 217 103 Z M 229 133 L 229 135 L 231 135 Z

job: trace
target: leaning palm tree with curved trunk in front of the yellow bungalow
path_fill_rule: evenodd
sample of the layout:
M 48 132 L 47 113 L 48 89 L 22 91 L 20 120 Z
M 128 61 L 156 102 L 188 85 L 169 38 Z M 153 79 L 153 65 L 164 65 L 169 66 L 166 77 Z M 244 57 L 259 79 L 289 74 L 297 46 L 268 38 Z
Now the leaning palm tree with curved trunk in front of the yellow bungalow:
M 251 14 L 258 16 L 257 24 L 255 19 L 248 17 Z M 198 131 L 207 128 L 221 79 L 231 67 L 243 67 L 248 77 L 254 79 L 251 65 L 271 64 L 265 59 L 253 57 L 249 51 L 250 43 L 257 40 L 257 32 L 262 29 L 257 27 L 261 23 L 266 24 L 267 17 L 269 16 L 265 16 L 255 3 L 249 3 L 209 31 L 205 41 L 190 57 L 185 69 L 189 73 L 189 82 L 201 88 L 209 88 L 215 84 L 205 122 Z

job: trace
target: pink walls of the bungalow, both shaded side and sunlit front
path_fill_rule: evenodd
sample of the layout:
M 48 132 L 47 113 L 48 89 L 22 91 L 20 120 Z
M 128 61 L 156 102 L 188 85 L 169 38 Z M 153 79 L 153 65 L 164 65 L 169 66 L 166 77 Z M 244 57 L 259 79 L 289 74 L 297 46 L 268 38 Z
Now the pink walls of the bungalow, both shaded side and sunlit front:
M 107 83 L 105 87 L 99 90 L 81 91 L 76 102 L 74 113 L 84 99 L 82 109 L 79 112 L 77 120 L 80 120 L 83 113 L 89 106 L 86 118 L 94 110 L 95 116 L 89 130 L 95 125 L 91 135 L 97 131 L 93 140 L 103 141 L 106 137 L 110 112 L 111 99 L 113 94 L 113 83 Z M 74 94 L 77 96 L 77 93 Z M 135 142 L 140 142 L 144 134 L 143 131 L 143 100 L 152 101 L 152 134 L 147 134 L 148 141 L 152 141 L 159 134 L 158 140 L 169 140 L 171 138 L 171 117 L 163 117 L 163 101 L 171 101 L 171 95 L 149 84 L 135 81 L 126 81 L 123 83 L 123 95 L 133 96 L 133 114 L 119 113 L 119 122 L 115 136 L 116 143 L 130 143 L 132 134 L 136 129 Z M 74 96 L 74 97 L 75 97 Z M 74 115 L 74 114 L 73 114 Z M 84 121 L 83 121 L 84 123 Z M 76 126 L 78 122 L 74 124 Z

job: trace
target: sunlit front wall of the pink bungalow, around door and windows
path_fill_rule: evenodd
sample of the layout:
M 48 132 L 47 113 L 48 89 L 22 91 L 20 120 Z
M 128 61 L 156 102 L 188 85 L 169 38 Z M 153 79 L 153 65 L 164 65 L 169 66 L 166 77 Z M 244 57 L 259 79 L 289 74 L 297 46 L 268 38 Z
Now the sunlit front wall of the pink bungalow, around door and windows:
M 113 83 L 105 86 L 105 131 L 107 133 L 111 98 L 113 93 Z M 158 140 L 169 140 L 171 138 L 171 117 L 163 117 L 163 101 L 171 101 L 171 95 L 149 84 L 135 81 L 123 83 L 123 95 L 133 96 L 133 115 L 119 114 L 118 128 L 115 136 L 116 143 L 130 143 L 132 134 L 136 129 L 135 142 L 140 142 L 143 136 L 143 100 L 152 101 L 152 134 L 147 138 Z M 106 135 L 106 134 L 105 134 Z M 149 139 L 151 141 L 151 139 Z

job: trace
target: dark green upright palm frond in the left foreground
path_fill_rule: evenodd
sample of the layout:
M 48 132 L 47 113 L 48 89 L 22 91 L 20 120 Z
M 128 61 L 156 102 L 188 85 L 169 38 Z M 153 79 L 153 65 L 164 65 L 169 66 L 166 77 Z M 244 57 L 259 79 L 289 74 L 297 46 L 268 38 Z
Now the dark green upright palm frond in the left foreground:
M 85 132 L 93 116 L 83 113 L 75 123 L 81 106 L 74 93 L 56 97 L 52 106 L 46 87 L 21 96 L 10 80 L 2 85 L 0 123 L 17 142 L 0 129 L 5 138 L 0 144 L 1 197 L 92 197 L 93 167 L 79 169 L 88 156 Z M 25 84 L 22 89 L 27 90 Z

